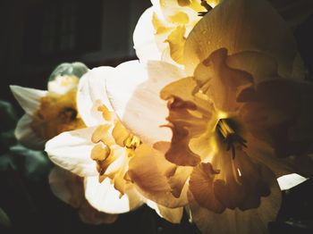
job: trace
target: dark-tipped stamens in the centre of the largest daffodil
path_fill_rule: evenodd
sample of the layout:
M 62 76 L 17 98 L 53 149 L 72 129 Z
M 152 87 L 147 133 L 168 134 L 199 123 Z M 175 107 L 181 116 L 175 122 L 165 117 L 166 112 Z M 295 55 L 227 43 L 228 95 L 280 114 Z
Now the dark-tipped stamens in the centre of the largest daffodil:
M 226 150 L 232 150 L 233 159 L 236 156 L 236 146 L 247 147 L 247 140 L 242 138 L 230 125 L 228 119 L 220 119 L 217 123 L 217 130 L 223 137 Z

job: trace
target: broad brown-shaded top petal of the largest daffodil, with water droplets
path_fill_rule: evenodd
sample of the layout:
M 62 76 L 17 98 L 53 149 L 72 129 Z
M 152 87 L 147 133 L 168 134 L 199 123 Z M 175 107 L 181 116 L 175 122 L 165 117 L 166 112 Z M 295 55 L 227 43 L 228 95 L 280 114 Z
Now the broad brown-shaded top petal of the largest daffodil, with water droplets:
M 209 54 L 222 47 L 230 54 L 242 51 L 268 54 L 277 61 L 282 77 L 292 73 L 297 54 L 288 25 L 263 0 L 223 1 L 207 13 L 190 32 L 185 44 L 184 64 L 189 74 Z

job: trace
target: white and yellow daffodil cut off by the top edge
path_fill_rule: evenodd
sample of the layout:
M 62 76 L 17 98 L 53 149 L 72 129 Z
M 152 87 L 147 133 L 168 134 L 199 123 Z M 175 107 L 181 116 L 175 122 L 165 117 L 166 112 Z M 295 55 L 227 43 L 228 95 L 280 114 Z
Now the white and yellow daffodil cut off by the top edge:
M 183 46 L 190 30 L 220 0 L 151 0 L 133 33 L 140 60 L 182 64 Z M 202 16 L 200 16 L 200 15 Z

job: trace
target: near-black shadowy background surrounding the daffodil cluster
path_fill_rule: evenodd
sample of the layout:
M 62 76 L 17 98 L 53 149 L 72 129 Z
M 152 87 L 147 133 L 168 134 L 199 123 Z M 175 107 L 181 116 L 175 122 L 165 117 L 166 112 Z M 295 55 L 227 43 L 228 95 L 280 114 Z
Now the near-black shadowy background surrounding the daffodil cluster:
M 63 62 L 80 61 L 93 68 L 135 59 L 132 31 L 149 5 L 148 0 L 2 0 L 0 99 L 12 103 L 17 114 L 12 121 L 4 121 L 1 115 L 0 129 L 13 129 L 22 113 L 9 85 L 47 89 L 49 74 Z M 294 35 L 308 68 L 307 79 L 313 80 L 313 15 L 294 30 Z M 0 150 L 4 155 L 5 144 Z M 13 162 L 5 170 L 0 168 L 0 207 L 10 216 L 13 227 L 0 225 L 1 234 L 199 233 L 185 216 L 181 225 L 173 225 L 146 206 L 120 215 L 110 226 L 84 224 L 77 210 L 53 196 L 48 170 L 38 169 L 31 175 L 24 170 L 25 159 L 18 154 L 10 157 Z M 46 162 L 45 166 L 52 165 Z M 285 194 L 277 221 L 270 223 L 272 233 L 313 233 L 312 193 L 308 181 Z M 286 224 L 291 219 L 304 221 L 304 228 Z

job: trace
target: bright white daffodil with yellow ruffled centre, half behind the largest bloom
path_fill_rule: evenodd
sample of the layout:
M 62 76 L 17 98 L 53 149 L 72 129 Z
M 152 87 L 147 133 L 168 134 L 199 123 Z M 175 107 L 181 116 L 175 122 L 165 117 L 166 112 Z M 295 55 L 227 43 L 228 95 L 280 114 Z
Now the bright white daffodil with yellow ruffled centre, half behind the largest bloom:
M 88 127 L 63 132 L 47 142 L 46 151 L 55 164 L 83 178 L 86 200 L 97 211 L 127 213 L 147 203 L 161 217 L 177 223 L 182 207 L 157 205 L 130 180 L 129 162 L 141 140 L 123 127 L 106 96 L 107 80 L 132 63 L 138 62 L 95 68 L 80 79 L 78 109 Z

